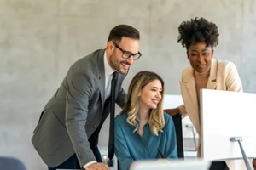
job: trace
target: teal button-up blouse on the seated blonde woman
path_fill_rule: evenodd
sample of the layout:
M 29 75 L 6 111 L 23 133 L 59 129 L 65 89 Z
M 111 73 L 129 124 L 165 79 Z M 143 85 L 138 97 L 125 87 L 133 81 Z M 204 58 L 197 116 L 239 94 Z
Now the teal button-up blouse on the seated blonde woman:
M 158 136 L 150 132 L 147 123 L 143 127 L 143 137 L 137 132 L 133 133 L 134 127 L 126 122 L 127 114 L 115 117 L 114 148 L 120 170 L 128 170 L 133 161 L 160 159 L 161 154 L 166 159 L 177 159 L 174 123 L 168 114 L 164 113 L 164 117 L 166 125 Z

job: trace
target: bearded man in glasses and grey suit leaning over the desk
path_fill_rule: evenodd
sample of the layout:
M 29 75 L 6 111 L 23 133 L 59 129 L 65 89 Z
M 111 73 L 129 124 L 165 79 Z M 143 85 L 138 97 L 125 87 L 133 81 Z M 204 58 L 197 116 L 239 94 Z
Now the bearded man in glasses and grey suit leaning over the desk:
M 109 33 L 107 47 L 76 61 L 60 88 L 45 105 L 32 144 L 49 170 L 109 169 L 97 148 L 98 135 L 110 111 L 111 79 L 117 71 L 115 103 L 125 105 L 121 87 L 134 60 L 140 58 L 139 31 L 119 25 Z

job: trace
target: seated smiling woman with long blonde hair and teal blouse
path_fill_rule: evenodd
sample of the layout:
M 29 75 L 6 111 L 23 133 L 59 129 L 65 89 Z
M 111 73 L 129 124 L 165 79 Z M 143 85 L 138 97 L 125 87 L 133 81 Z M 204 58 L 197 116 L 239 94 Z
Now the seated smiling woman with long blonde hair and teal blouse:
M 114 122 L 119 169 L 129 169 L 133 161 L 177 159 L 174 123 L 163 112 L 164 94 L 164 82 L 154 72 L 140 71 L 131 80 L 125 107 Z

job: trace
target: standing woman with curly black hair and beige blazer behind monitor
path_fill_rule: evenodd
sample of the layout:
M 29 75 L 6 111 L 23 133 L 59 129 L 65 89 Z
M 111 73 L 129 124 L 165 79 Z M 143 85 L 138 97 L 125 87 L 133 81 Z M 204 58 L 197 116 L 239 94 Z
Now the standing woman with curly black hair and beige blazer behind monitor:
M 201 138 L 200 127 L 200 89 L 215 89 L 242 92 L 241 80 L 236 65 L 230 61 L 213 59 L 214 48 L 218 45 L 218 27 L 204 18 L 183 21 L 178 27 L 178 39 L 183 47 L 190 66 L 183 71 L 180 81 L 183 105 L 165 110 L 170 115 L 189 116 L 196 132 Z M 214 122 L 213 122 L 214 123 Z M 196 147 L 201 157 L 201 144 Z M 235 161 L 226 161 L 230 170 L 234 169 Z M 211 170 L 227 169 L 224 161 L 213 162 Z M 236 161 L 237 163 L 237 161 Z M 238 163 L 240 164 L 240 163 Z M 240 164 L 241 165 L 241 164 Z M 244 163 L 242 162 L 242 165 Z M 236 169 L 241 170 L 240 167 Z

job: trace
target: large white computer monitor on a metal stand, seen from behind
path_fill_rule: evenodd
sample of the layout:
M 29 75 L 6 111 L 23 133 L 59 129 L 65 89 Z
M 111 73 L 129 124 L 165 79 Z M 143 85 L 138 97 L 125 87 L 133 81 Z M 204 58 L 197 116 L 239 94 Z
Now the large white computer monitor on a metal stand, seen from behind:
M 201 90 L 201 154 L 205 161 L 256 157 L 256 94 Z

